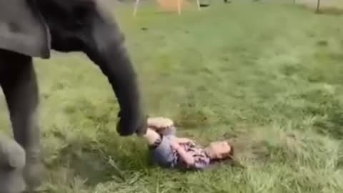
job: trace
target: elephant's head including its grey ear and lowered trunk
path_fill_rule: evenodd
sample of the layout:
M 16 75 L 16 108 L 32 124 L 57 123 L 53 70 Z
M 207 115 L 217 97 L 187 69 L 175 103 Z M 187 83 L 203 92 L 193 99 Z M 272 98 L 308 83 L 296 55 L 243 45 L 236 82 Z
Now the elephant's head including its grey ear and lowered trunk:
M 98 65 L 119 102 L 121 136 L 144 133 L 136 72 L 113 16 L 96 0 L 0 0 L 0 48 L 49 59 L 81 51 Z M 2 21 L 1 21 L 2 20 Z

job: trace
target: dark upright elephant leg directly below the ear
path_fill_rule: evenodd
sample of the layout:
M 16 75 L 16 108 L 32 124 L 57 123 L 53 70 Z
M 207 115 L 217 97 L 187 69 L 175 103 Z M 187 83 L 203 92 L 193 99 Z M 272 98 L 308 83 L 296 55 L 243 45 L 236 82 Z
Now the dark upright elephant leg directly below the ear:
M 39 88 L 31 57 L 0 51 L 0 65 L 6 65 L 1 86 L 9 108 L 14 138 L 26 151 L 24 177 L 29 189 L 41 183 L 40 131 L 37 119 Z

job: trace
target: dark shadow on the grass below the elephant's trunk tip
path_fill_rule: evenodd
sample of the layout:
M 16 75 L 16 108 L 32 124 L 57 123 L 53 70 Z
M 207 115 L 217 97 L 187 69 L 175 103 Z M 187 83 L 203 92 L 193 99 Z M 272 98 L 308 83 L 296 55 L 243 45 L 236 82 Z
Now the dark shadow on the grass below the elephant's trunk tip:
M 147 163 L 146 151 L 139 151 L 131 147 L 131 144 L 124 147 L 129 149 L 131 154 L 121 151 L 124 142 L 116 137 L 115 133 L 99 131 L 97 142 L 87 139 L 67 142 L 60 132 L 54 132 L 54 136 L 64 140 L 67 145 L 59 151 L 54 161 L 46 164 L 46 167 L 51 174 L 61 169 L 67 171 L 63 175 L 70 179 L 64 179 L 65 182 L 72 182 L 77 176 L 86 180 L 85 186 L 92 188 L 109 181 L 126 183 L 131 181 L 131 173 L 151 167 L 151 164 Z

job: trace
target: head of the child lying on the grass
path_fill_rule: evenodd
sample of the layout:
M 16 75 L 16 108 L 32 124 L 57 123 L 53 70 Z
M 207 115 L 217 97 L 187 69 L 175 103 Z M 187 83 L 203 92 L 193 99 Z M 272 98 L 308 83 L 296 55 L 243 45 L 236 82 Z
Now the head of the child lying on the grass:
M 228 159 L 233 155 L 232 146 L 227 141 L 212 142 L 205 152 L 211 159 Z

